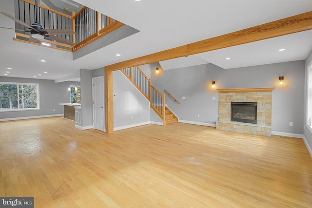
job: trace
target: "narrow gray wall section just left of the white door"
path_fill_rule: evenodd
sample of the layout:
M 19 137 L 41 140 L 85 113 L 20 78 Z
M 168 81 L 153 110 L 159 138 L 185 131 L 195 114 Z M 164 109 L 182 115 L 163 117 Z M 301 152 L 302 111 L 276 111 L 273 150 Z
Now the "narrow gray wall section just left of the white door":
M 93 126 L 92 113 L 92 71 L 80 69 L 81 126 Z

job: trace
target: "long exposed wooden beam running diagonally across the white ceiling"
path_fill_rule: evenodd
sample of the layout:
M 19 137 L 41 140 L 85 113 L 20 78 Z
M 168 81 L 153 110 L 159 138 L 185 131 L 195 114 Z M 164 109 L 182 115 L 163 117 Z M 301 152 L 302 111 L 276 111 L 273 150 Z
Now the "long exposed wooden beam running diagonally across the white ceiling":
M 225 34 L 215 38 L 209 38 L 183 45 L 180 47 L 168 49 L 143 57 L 137 57 L 131 60 L 119 62 L 105 67 L 105 70 L 115 71 L 131 66 L 140 66 L 149 63 L 155 63 L 162 60 L 168 60 L 177 57 L 189 56 L 193 54 L 213 51 L 240 44 L 250 43 L 267 38 L 289 35 L 305 30 L 312 29 L 312 11 L 295 15 L 285 19 L 279 19 L 269 23 L 257 25 L 233 33 Z

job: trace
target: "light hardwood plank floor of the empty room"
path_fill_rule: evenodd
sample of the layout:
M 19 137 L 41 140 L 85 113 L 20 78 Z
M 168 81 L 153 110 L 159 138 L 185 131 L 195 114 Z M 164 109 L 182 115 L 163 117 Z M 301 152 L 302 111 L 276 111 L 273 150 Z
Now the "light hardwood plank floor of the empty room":
M 302 139 L 176 123 L 105 134 L 62 117 L 0 122 L 0 196 L 35 208 L 311 208 Z

